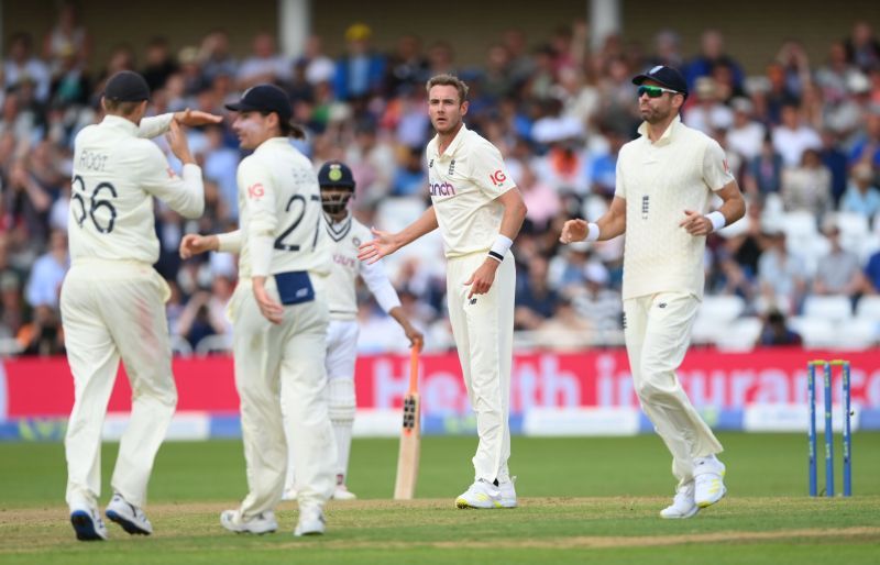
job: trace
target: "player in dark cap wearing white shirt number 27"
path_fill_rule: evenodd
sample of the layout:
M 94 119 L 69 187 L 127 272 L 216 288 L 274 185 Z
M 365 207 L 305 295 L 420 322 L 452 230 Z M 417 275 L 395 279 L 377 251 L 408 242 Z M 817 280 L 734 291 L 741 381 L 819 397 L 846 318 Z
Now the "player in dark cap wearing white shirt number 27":
M 180 242 L 184 258 L 205 251 L 240 254 L 229 312 L 250 492 L 220 522 L 234 532 L 277 529 L 274 510 L 287 469 L 283 402 L 300 454 L 294 534 L 321 534 L 337 448 L 326 397 L 330 253 L 318 178 L 288 140 L 301 132 L 289 123 L 293 109 L 284 90 L 257 85 L 227 108 L 239 112 L 232 129 L 241 147 L 254 149 L 239 164 L 241 228 Z

